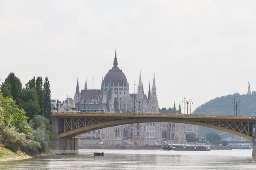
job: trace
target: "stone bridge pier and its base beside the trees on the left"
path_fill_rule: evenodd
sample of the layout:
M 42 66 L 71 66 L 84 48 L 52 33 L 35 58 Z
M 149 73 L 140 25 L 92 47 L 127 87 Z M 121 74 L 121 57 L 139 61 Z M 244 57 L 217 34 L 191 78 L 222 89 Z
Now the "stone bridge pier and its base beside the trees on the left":
M 78 153 L 78 137 L 60 138 L 58 135 L 58 118 L 52 116 L 52 145 L 54 153 Z M 62 151 L 57 151 L 62 150 Z M 73 150 L 67 152 L 67 150 Z M 77 151 L 74 151 L 77 150 Z

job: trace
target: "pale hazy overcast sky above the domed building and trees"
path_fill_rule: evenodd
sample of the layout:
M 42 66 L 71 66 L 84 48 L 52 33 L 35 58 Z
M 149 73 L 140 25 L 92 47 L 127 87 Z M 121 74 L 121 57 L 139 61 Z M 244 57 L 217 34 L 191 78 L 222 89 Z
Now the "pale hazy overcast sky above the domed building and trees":
M 0 78 L 49 77 L 51 96 L 73 96 L 79 76 L 100 88 L 113 66 L 145 91 L 155 72 L 160 107 L 256 91 L 255 0 L 0 0 Z M 137 87 L 136 87 L 137 88 Z M 232 101 L 230 101 L 230 105 Z

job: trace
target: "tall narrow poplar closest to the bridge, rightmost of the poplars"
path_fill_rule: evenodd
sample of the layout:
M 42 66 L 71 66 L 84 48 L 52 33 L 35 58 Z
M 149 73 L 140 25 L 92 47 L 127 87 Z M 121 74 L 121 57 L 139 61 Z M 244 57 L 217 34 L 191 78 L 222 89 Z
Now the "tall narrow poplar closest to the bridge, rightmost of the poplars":
M 51 90 L 48 77 L 44 79 L 44 116 L 52 119 Z

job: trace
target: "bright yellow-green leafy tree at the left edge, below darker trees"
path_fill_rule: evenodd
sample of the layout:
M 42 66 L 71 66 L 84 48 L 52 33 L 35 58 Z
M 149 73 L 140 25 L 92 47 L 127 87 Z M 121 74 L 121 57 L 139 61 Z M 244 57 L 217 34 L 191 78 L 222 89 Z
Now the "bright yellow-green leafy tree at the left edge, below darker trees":
M 3 120 L 4 122 L 10 122 L 11 127 L 15 127 L 19 133 L 28 134 L 32 131 L 32 128 L 26 124 L 28 117 L 25 116 L 25 111 L 19 109 L 15 105 L 15 101 L 11 97 L 4 98 L 0 94 L 0 103 L 3 108 Z

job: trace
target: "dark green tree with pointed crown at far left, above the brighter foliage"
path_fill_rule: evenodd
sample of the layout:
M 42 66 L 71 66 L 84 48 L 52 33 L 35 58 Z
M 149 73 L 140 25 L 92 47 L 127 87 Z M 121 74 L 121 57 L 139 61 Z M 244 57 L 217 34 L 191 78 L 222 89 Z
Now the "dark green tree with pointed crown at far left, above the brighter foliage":
M 9 84 L 7 84 L 7 83 L 9 83 Z M 2 86 L 4 86 L 3 88 L 5 90 L 6 90 L 6 88 L 8 89 L 7 90 L 8 93 L 9 93 L 9 88 L 11 88 L 11 95 L 12 95 L 13 99 L 16 101 L 17 105 L 20 105 L 21 104 L 20 97 L 21 97 L 21 94 L 22 94 L 22 92 L 21 92 L 22 91 L 22 83 L 21 83 L 20 79 L 18 77 L 16 77 L 14 73 L 11 72 L 6 77 Z M 1 88 L 2 88 L 2 86 L 1 86 Z M 4 90 L 4 92 L 7 93 L 5 90 Z M 2 92 L 2 89 L 1 89 L 1 92 Z

